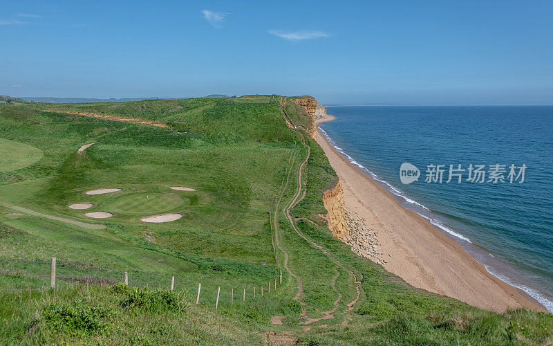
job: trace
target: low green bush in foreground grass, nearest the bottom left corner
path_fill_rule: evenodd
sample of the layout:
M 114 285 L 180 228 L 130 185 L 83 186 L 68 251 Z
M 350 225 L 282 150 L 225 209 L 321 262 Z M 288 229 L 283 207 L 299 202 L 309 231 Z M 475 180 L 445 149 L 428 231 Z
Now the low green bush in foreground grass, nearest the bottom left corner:
M 109 309 L 91 307 L 83 301 L 71 304 L 50 304 L 42 309 L 48 327 L 57 331 L 84 331 L 87 334 L 104 329 Z

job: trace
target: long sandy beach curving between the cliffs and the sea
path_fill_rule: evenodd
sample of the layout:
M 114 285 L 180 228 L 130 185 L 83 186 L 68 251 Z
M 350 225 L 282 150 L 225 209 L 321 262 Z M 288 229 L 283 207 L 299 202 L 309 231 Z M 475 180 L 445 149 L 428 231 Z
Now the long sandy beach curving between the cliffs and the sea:
M 363 225 L 350 227 L 347 242 L 355 253 L 382 264 L 415 287 L 475 307 L 547 312 L 530 295 L 489 273 L 455 240 L 404 208 L 391 192 L 337 152 L 317 127 L 332 120 L 328 114 L 315 119 L 316 138 L 339 176 L 346 214 Z

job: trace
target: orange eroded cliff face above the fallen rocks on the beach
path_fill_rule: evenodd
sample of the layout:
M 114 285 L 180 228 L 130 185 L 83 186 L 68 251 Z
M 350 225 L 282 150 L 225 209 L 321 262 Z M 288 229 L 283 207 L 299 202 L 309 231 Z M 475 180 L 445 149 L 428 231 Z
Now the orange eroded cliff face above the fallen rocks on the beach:
M 332 235 L 345 242 L 350 234 L 349 228 L 346 226 L 344 192 L 341 183 L 337 183 L 333 188 L 324 192 L 323 203 L 324 208 L 328 211 L 326 215 L 328 228 L 332 231 Z

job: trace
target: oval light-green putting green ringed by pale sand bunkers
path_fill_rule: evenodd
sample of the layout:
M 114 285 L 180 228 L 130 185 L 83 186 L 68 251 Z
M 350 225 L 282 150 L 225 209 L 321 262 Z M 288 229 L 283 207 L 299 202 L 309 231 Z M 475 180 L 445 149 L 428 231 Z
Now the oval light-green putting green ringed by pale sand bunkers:
M 188 200 L 178 194 L 139 192 L 126 194 L 102 206 L 102 210 L 116 214 L 153 215 L 170 212 L 184 206 Z

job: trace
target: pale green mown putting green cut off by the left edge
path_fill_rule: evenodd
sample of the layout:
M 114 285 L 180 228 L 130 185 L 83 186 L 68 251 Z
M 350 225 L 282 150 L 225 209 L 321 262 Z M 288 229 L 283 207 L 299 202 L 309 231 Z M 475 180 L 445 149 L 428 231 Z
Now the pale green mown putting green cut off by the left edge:
M 0 138 L 0 172 L 19 170 L 39 161 L 43 152 L 32 145 Z

